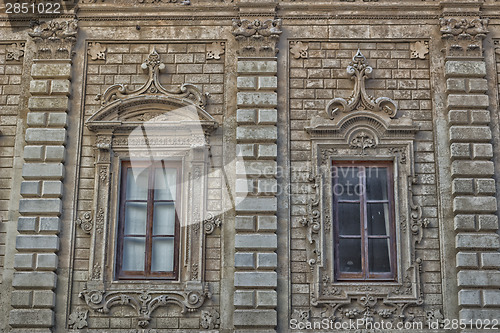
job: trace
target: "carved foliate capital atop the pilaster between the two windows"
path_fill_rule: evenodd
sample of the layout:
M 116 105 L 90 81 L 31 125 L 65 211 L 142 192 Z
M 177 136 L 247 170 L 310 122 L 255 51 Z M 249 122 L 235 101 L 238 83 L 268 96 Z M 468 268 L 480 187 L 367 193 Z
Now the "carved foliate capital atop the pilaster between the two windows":
M 232 33 L 240 45 L 240 55 L 274 57 L 281 32 L 281 19 L 233 19 Z

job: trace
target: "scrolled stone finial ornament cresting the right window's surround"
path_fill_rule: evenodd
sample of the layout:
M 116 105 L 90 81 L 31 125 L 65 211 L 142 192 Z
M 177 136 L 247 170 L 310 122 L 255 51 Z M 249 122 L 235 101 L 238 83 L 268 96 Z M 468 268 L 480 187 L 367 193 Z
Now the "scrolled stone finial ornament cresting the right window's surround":
M 391 118 L 396 116 L 396 102 L 388 97 L 375 99 L 366 92 L 365 80 L 372 71 L 373 68 L 366 63 L 365 56 L 358 50 L 352 58 L 352 62 L 347 66 L 347 73 L 354 80 L 354 90 L 347 100 L 334 98 L 328 103 L 326 112 L 331 119 L 335 119 L 339 114 L 365 110 L 383 112 Z

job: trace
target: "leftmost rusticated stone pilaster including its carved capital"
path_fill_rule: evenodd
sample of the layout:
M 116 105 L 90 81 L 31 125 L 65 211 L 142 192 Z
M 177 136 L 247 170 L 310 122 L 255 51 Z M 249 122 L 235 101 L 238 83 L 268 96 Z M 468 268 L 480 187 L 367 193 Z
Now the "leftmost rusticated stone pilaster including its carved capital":
M 30 35 L 37 50 L 31 67 L 9 324 L 50 331 L 61 228 L 71 49 L 76 21 L 42 23 Z M 56 38 L 55 36 L 66 36 Z

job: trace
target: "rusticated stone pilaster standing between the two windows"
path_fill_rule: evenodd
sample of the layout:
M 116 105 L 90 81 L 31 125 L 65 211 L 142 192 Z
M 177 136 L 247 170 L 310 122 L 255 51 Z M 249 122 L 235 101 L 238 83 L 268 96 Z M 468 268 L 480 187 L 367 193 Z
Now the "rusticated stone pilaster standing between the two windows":
M 247 27 L 249 22 L 239 23 Z M 273 20 L 270 27 L 279 28 L 279 24 Z M 233 34 L 244 44 L 237 63 L 236 151 L 243 160 L 236 166 L 233 320 L 237 331 L 274 332 L 278 283 L 275 45 L 279 34 L 262 37 L 256 45 L 249 45 L 251 37 Z M 252 52 L 246 56 L 245 50 Z

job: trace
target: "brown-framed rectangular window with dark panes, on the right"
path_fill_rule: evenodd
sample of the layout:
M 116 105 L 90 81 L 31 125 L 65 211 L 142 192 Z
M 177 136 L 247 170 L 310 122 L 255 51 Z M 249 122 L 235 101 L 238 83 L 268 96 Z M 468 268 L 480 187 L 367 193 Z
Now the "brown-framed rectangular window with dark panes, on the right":
M 392 164 L 333 162 L 335 277 L 394 281 Z

